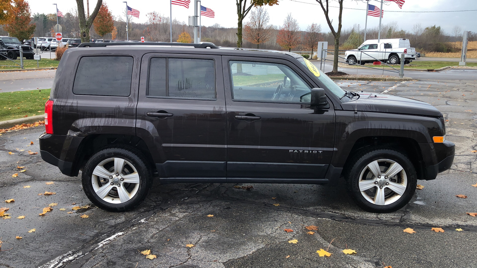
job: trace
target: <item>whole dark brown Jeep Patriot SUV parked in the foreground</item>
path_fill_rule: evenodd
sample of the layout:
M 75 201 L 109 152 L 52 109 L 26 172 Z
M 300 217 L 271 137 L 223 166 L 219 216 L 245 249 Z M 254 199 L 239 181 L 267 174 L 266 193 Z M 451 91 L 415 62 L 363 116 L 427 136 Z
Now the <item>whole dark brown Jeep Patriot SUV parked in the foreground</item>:
M 107 68 L 104 68 L 107 66 Z M 211 43 L 83 43 L 45 104 L 41 157 L 124 211 L 166 183 L 336 185 L 372 212 L 450 168 L 430 104 L 340 88 L 298 54 Z

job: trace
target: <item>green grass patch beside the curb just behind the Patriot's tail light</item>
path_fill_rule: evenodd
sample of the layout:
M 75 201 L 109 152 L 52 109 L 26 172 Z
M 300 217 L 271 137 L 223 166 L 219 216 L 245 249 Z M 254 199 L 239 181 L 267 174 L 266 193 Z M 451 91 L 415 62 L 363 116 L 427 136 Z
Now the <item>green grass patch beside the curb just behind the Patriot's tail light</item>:
M 0 121 L 43 114 L 50 91 L 51 89 L 42 89 L 0 93 Z

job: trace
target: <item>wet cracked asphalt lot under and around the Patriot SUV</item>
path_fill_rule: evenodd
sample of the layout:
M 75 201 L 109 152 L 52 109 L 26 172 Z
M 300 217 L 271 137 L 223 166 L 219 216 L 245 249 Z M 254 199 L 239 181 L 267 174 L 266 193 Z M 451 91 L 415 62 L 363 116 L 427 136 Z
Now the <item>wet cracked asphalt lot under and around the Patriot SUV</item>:
M 0 219 L 0 267 L 477 267 L 477 217 L 466 214 L 477 212 L 477 187 L 471 186 L 477 183 L 472 152 L 477 150 L 477 71 L 466 73 L 465 80 L 444 80 L 445 75 L 436 73 L 441 80 L 338 82 L 347 90 L 376 94 L 399 84 L 386 94 L 431 103 L 448 120 L 446 138 L 456 144 L 454 165 L 436 180 L 418 181 L 424 189 L 389 214 L 358 208 L 343 182 L 335 187 L 252 184 L 250 191 L 234 184 L 156 183 L 134 211 L 106 212 L 85 197 L 80 177 L 62 175 L 40 155 L 27 153 L 39 151 L 42 127 L 4 133 L 0 200 L 15 202 L 0 205 L 9 207 L 11 216 Z M 17 165 L 26 171 L 12 177 Z M 50 181 L 54 184 L 45 184 Z M 38 195 L 45 191 L 56 194 Z M 459 194 L 467 198 L 455 196 Z M 38 216 L 51 203 L 58 205 Z M 90 207 L 72 210 L 85 205 Z M 314 235 L 307 234 L 309 225 L 318 227 Z M 416 233 L 404 233 L 407 227 Z M 289 243 L 292 239 L 298 243 Z M 332 256 L 319 257 L 320 248 Z M 345 255 L 345 248 L 357 254 Z M 140 254 L 146 249 L 157 258 Z

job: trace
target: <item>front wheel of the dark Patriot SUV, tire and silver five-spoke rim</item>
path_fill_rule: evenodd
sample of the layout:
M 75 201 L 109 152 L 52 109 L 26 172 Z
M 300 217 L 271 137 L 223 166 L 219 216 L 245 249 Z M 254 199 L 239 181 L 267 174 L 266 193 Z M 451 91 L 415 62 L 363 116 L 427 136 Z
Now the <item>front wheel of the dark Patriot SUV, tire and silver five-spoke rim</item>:
M 393 149 L 374 148 L 358 153 L 349 163 L 345 173 L 348 192 L 364 210 L 394 212 L 414 196 L 417 175 L 406 155 Z M 387 178 L 388 171 L 397 174 Z

